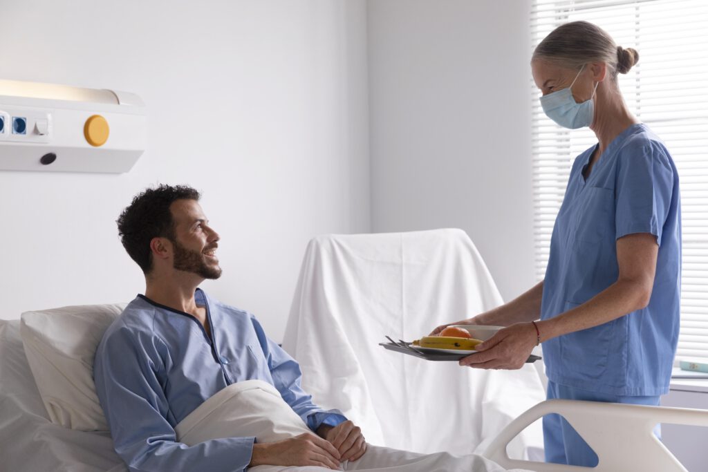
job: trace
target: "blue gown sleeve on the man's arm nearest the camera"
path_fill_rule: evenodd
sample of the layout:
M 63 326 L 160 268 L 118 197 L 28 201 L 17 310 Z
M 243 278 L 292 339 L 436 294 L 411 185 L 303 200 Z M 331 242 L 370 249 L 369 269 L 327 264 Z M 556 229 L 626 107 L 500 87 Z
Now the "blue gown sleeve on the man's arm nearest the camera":
M 158 375 L 164 369 L 163 349 L 151 333 L 121 328 L 96 351 L 96 393 L 115 451 L 130 471 L 245 471 L 253 437 L 211 439 L 191 447 L 177 441 Z

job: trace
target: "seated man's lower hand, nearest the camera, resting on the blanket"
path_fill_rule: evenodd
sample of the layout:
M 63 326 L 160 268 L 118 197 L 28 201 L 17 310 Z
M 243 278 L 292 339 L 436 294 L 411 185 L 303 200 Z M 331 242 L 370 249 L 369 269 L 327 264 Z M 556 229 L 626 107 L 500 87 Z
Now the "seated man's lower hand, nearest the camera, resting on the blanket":
M 253 444 L 249 467 L 270 466 L 319 466 L 340 470 L 341 454 L 329 441 L 306 432 L 278 442 Z

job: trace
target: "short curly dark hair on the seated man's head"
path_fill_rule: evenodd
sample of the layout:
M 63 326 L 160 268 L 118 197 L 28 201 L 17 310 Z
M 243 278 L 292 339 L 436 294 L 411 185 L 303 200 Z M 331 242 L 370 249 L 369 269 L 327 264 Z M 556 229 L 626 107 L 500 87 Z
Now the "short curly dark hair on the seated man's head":
M 198 190 L 187 185 L 159 185 L 147 188 L 133 198 L 115 222 L 118 236 L 128 255 L 144 274 L 152 270 L 152 238 L 175 241 L 175 228 L 170 205 L 175 200 L 199 200 Z

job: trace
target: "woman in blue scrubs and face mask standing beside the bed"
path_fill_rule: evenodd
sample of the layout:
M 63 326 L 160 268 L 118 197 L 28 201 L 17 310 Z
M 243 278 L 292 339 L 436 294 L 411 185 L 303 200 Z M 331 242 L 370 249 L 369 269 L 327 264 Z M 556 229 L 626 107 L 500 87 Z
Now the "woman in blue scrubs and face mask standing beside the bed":
M 617 74 L 638 59 L 584 21 L 561 25 L 536 47 L 544 112 L 566 128 L 589 126 L 598 144 L 573 163 L 544 280 L 451 323 L 506 326 L 460 364 L 518 369 L 543 343 L 548 398 L 658 405 L 668 392 L 680 313 L 678 173 L 619 91 Z M 549 462 L 598 462 L 559 415 L 544 418 L 544 444 Z

